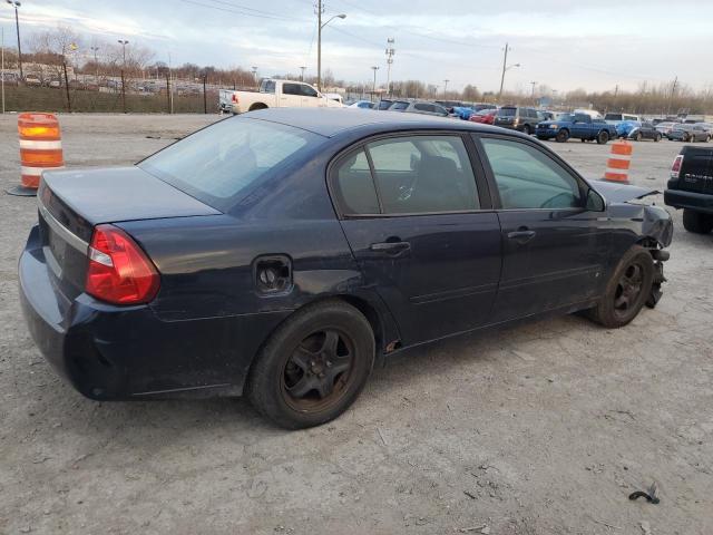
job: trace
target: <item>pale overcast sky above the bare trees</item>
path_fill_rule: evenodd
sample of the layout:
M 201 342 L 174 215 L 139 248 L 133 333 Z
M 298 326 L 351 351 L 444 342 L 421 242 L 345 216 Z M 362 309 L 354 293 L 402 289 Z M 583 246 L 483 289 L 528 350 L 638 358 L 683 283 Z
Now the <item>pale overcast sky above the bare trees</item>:
M 711 0 L 325 0 L 322 68 L 349 81 L 385 80 L 387 38 L 395 39 L 392 79 L 497 90 L 510 43 L 506 89 L 530 81 L 558 91 L 635 89 L 647 80 L 713 84 Z M 20 32 L 66 23 L 91 36 L 152 48 L 157 60 L 258 67 L 258 76 L 316 71 L 313 0 L 22 0 Z M 4 1 L 0 25 L 14 43 Z

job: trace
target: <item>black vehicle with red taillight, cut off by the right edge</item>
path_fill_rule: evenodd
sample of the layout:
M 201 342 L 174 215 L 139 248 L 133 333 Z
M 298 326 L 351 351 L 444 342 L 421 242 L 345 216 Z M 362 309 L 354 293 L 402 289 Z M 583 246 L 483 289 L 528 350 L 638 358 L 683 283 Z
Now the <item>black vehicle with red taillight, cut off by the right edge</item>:
M 683 208 L 683 226 L 707 234 L 713 230 L 713 148 L 684 145 L 671 166 L 664 203 Z

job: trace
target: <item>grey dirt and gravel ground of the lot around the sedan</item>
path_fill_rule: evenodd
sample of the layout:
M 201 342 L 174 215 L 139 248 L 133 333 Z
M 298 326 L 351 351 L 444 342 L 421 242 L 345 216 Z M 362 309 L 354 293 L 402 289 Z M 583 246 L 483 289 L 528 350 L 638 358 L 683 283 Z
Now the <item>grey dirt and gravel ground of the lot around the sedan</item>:
M 62 116 L 65 158 L 131 163 L 215 118 Z M 548 145 L 589 177 L 609 150 Z M 680 147 L 636 144 L 633 182 L 662 187 Z M 0 188 L 18 172 L 8 115 Z M 57 378 L 17 296 L 35 200 L 2 193 L 0 533 L 711 534 L 713 235 L 674 218 L 664 296 L 627 328 L 565 317 L 420 348 L 287 432 L 243 400 L 99 403 Z M 627 499 L 654 480 L 658 505 Z

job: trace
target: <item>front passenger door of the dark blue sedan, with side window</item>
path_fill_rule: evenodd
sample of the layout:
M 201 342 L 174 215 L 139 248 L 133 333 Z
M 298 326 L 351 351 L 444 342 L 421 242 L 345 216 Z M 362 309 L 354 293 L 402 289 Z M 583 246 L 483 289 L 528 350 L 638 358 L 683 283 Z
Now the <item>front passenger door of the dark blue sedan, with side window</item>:
M 564 162 L 522 139 L 481 135 L 502 232 L 502 274 L 492 320 L 587 302 L 603 291 L 608 231 L 604 203 Z M 588 208 L 587 201 L 596 201 Z

